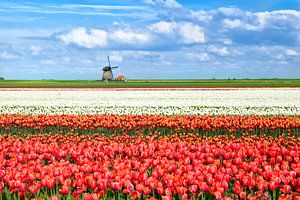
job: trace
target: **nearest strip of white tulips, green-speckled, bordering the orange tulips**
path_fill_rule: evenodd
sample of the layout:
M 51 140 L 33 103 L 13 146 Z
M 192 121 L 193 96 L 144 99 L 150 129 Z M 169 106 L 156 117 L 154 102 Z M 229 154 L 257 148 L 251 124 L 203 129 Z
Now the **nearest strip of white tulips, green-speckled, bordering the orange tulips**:
M 8 114 L 161 114 L 161 115 L 299 115 L 295 106 L 2 106 L 0 113 Z

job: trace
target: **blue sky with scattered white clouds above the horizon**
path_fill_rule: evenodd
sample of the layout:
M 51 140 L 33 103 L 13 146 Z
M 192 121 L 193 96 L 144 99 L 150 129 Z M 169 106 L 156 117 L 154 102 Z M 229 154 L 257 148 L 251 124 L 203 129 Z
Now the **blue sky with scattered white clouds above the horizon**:
M 299 0 L 1 0 L 0 77 L 300 78 Z

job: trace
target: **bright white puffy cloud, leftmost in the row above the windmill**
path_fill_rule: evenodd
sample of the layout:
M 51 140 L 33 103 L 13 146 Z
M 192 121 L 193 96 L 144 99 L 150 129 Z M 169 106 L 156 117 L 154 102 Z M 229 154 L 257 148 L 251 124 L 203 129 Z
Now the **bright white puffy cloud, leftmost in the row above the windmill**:
M 67 34 L 60 35 L 59 39 L 66 44 L 76 44 L 80 47 L 105 47 L 107 45 L 107 32 L 101 29 L 91 29 L 90 32 L 87 32 L 85 28 L 79 27 Z

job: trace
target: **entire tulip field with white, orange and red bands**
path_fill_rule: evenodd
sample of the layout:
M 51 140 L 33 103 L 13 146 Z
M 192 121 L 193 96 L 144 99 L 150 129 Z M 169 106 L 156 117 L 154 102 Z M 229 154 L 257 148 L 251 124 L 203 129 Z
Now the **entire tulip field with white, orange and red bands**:
M 300 89 L 0 89 L 0 200 L 300 199 Z

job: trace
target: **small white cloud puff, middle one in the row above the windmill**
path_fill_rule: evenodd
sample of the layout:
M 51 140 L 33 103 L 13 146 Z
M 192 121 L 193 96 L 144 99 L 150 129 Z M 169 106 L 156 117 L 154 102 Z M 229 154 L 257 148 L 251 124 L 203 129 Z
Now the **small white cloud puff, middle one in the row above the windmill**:
M 129 29 L 119 29 L 112 33 L 112 39 L 117 43 L 145 44 L 150 41 L 146 33 L 137 33 Z

